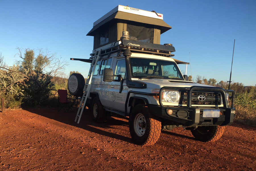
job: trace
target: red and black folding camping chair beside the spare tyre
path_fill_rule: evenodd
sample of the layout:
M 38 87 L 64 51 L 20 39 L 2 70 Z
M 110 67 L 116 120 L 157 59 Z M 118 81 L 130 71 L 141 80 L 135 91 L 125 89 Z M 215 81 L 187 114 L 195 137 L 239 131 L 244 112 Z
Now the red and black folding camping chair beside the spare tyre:
M 58 94 L 59 94 L 59 100 L 58 100 L 58 112 L 61 109 L 64 109 L 66 112 L 71 109 L 72 111 L 74 111 L 72 109 L 72 105 L 75 103 L 75 99 L 69 99 L 67 98 L 67 90 L 58 90 Z M 60 104 L 60 108 L 59 108 L 59 104 Z M 65 109 L 65 105 L 66 105 L 66 109 Z

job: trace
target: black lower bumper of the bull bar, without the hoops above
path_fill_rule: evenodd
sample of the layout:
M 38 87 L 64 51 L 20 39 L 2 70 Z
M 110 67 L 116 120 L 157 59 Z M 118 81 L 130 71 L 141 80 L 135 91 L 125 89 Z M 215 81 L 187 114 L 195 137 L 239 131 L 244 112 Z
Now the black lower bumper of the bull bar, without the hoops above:
M 166 125 L 183 125 L 193 127 L 197 125 L 230 125 L 234 122 L 235 108 L 218 108 L 223 115 L 219 118 L 204 118 L 203 109 L 196 107 L 160 107 L 148 105 L 150 112 L 162 118 Z M 172 109 L 173 114 L 168 115 L 167 110 Z

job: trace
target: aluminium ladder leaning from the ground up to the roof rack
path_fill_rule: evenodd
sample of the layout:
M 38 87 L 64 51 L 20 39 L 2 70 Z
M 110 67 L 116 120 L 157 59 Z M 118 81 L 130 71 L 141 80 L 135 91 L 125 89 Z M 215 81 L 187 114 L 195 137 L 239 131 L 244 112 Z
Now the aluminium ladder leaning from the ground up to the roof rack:
M 90 67 L 90 70 L 89 70 L 89 74 L 88 74 L 88 76 L 90 77 L 89 78 L 89 82 L 88 82 L 88 84 L 84 85 L 84 89 L 83 89 L 84 94 L 82 96 L 81 103 L 79 105 L 79 109 L 77 111 L 77 116 L 76 116 L 76 119 L 75 119 L 75 122 L 77 121 L 77 123 L 80 122 L 82 113 L 84 111 L 86 100 L 87 100 L 88 96 L 90 95 L 92 76 L 93 76 L 93 73 L 95 71 L 95 68 L 96 68 L 95 65 L 97 65 L 97 62 L 98 62 L 98 59 L 99 59 L 99 56 L 100 56 L 100 52 L 101 52 L 101 49 L 96 51 L 95 54 L 94 54 L 93 60 L 92 60 L 92 64 L 91 64 L 91 67 Z

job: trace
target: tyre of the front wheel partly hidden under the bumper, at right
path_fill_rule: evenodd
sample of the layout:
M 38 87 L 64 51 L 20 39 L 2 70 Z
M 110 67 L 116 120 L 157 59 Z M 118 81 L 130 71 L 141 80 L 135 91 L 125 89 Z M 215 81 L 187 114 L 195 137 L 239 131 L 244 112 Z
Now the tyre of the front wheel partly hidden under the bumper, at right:
M 215 142 L 218 141 L 223 133 L 224 133 L 224 126 L 212 126 L 213 130 L 208 134 L 208 135 L 202 135 L 200 133 L 198 133 L 198 131 L 195 130 L 191 130 L 192 135 L 195 137 L 195 139 L 202 141 L 202 142 Z

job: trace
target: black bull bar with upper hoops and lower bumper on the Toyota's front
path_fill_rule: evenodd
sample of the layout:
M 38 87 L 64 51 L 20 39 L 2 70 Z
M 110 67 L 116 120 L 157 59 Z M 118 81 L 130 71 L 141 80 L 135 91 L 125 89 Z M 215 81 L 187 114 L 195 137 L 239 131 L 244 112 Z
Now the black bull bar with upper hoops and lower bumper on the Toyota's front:
M 162 91 L 163 90 L 178 90 L 187 91 L 187 107 L 170 107 L 162 104 Z M 222 95 L 223 106 L 218 108 L 207 108 L 207 105 L 202 108 L 192 107 L 192 92 L 193 91 L 215 91 L 220 92 Z M 232 93 L 232 105 L 228 107 L 226 100 L 226 92 Z M 192 87 L 162 87 L 159 92 L 159 104 L 149 105 L 149 109 L 152 114 L 163 118 L 164 124 L 168 125 L 183 125 L 185 127 L 193 127 L 197 125 L 230 125 L 234 122 L 235 108 L 234 108 L 234 91 L 224 90 L 220 87 L 203 87 L 203 86 L 192 86 Z M 167 110 L 172 109 L 173 114 L 168 115 Z M 219 118 L 204 118 L 203 109 L 220 109 L 221 115 Z

